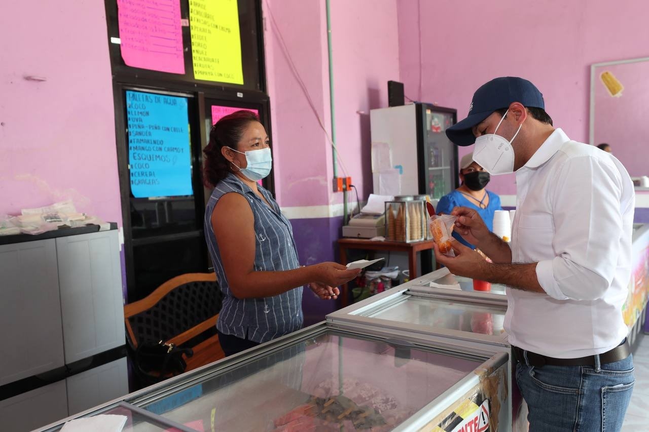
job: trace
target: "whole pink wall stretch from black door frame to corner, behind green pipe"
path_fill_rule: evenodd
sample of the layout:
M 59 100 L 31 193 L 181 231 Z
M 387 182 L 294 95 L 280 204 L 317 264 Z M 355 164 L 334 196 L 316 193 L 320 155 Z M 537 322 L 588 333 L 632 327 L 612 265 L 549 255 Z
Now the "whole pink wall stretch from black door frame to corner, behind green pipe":
M 332 192 L 332 149 L 282 51 L 288 52 L 318 115 L 330 131 L 329 72 L 324 0 L 263 2 L 267 82 L 273 119 L 278 202 L 323 206 L 342 202 Z M 352 176 L 361 200 L 371 192 L 369 110 L 387 106 L 387 80 L 398 80 L 396 0 L 332 0 L 332 47 L 339 176 Z M 299 17 L 299 19 L 296 19 Z M 359 114 L 360 112 L 360 114 Z M 350 201 L 355 201 L 352 194 Z

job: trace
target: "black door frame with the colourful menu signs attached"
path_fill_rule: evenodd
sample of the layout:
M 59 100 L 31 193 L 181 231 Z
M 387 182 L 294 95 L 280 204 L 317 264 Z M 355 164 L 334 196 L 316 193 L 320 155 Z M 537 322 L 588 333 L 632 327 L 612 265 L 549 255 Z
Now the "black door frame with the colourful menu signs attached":
M 203 188 L 202 182 L 202 148 L 206 145 L 209 138 L 209 131 L 205 130 L 205 108 L 206 99 L 223 102 L 227 106 L 255 106 L 260 108 L 260 120 L 265 126 L 269 136 L 272 136 L 270 101 L 267 95 L 266 67 L 265 67 L 265 47 L 263 40 L 263 14 L 261 0 L 253 0 L 255 8 L 255 31 L 257 46 L 257 68 L 258 82 L 254 85 L 256 90 L 238 86 L 236 84 L 210 84 L 201 80 L 193 80 L 187 75 L 174 75 L 160 73 L 157 71 L 147 71 L 145 69 L 131 68 L 126 66 L 121 59 L 121 52 L 115 43 L 111 42 L 112 38 L 119 35 L 117 27 L 117 1 L 106 0 L 106 24 L 108 30 L 108 45 L 110 51 L 110 60 L 112 67 L 112 87 L 115 113 L 115 132 L 116 132 L 116 152 L 117 152 L 117 171 L 119 174 L 119 190 L 121 196 L 122 223 L 124 234 L 124 256 L 127 277 L 127 292 L 135 287 L 135 270 L 134 270 L 134 239 L 132 237 L 132 224 L 130 219 L 130 174 L 129 174 L 129 147 L 127 142 L 127 112 L 125 104 L 125 91 L 151 91 L 153 93 L 162 93 L 188 97 L 188 115 L 190 118 L 192 164 L 197 167 L 193 170 L 192 186 L 195 197 L 195 208 L 197 221 L 204 219 L 204 204 L 206 201 L 206 189 Z M 188 0 L 180 0 L 181 14 L 188 16 Z M 183 29 L 183 45 L 190 46 L 189 29 Z M 243 59 L 245 61 L 245 59 Z M 186 56 L 186 65 L 191 64 L 191 54 Z M 187 69 L 190 70 L 190 69 Z M 197 131 L 197 132 L 196 132 Z M 263 186 L 275 196 L 275 181 L 273 178 L 274 170 L 263 182 Z M 202 211 L 201 211 L 202 210 Z M 197 227 L 202 233 L 202 222 Z M 183 232 L 178 234 L 164 235 L 165 240 L 174 240 L 194 237 L 197 232 Z M 137 239 L 139 243 L 151 243 L 159 241 L 153 239 Z M 209 254 L 206 248 L 204 250 L 205 270 L 211 267 Z

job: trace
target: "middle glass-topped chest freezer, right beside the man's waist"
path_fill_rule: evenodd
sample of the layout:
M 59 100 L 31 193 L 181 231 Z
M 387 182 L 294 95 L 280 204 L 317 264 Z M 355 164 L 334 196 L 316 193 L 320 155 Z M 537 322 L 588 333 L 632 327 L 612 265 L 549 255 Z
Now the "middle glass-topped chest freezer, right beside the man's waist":
M 327 321 L 366 331 L 380 328 L 397 337 L 417 335 L 437 344 L 459 345 L 468 352 L 505 353 L 511 359 L 511 344 L 503 328 L 507 311 L 504 287 L 496 286 L 493 292 L 469 291 L 460 282 L 464 283 L 464 278 L 447 269 L 436 270 L 331 313 Z M 510 397 L 503 412 L 507 412 L 509 427 L 503 430 L 526 430 L 527 410 L 511 380 L 511 361 L 507 369 Z

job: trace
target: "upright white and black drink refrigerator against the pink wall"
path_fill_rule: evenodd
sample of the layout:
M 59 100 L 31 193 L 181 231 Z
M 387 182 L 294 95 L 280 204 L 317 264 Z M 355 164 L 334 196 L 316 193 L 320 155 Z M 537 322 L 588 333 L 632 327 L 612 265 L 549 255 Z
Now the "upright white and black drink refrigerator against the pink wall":
M 371 110 L 374 193 L 439 199 L 458 187 L 457 110 L 426 103 Z

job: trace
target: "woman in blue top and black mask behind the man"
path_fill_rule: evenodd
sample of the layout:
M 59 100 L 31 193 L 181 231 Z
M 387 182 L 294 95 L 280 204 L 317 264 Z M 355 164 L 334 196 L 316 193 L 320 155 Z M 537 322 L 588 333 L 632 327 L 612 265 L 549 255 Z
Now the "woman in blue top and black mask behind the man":
M 461 206 L 478 211 L 487 224 L 487 228 L 493 231 L 493 213 L 500 208 L 500 197 L 493 192 L 487 191 L 485 187 L 489 183 L 489 173 L 473 162 L 473 153 L 465 154 L 459 162 L 459 180 L 461 185 L 448 195 L 442 197 L 437 203 L 437 214 L 449 214 L 453 208 Z M 460 243 L 474 249 L 468 241 L 463 239 L 457 232 L 453 233 Z

